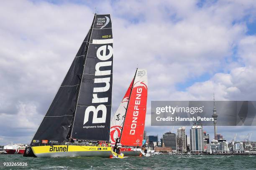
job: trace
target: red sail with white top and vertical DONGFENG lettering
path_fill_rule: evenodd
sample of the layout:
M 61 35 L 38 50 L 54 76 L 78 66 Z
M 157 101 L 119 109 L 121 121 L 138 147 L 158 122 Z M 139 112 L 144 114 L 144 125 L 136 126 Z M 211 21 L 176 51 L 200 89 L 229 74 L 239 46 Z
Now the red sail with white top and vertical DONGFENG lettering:
M 147 95 L 147 71 L 144 69 L 137 69 L 121 132 L 120 143 L 122 145 L 142 145 L 146 118 Z

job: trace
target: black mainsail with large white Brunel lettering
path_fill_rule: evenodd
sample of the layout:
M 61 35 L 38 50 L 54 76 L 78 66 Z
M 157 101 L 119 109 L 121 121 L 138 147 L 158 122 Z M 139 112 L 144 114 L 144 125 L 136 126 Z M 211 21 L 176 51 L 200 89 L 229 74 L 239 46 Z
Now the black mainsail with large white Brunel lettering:
M 110 15 L 96 15 L 93 25 L 71 138 L 108 141 L 113 80 Z

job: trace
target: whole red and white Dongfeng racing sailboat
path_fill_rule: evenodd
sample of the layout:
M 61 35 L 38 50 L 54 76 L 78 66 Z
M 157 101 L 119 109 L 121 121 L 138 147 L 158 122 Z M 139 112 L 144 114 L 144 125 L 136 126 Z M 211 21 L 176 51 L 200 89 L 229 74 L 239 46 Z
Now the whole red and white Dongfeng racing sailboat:
M 143 132 L 146 118 L 148 80 L 145 69 L 136 70 L 118 110 L 111 119 L 110 141 L 122 145 L 120 152 L 125 156 L 148 156 L 143 152 Z

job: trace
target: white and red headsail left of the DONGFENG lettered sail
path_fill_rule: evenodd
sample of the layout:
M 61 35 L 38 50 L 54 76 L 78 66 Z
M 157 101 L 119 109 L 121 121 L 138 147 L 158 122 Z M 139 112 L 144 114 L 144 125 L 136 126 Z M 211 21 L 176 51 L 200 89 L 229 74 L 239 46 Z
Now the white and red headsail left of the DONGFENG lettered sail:
M 112 144 L 115 144 L 116 138 L 120 138 L 120 135 L 121 135 L 121 130 L 123 128 L 123 122 L 125 119 L 125 112 L 127 109 L 128 101 L 130 99 L 131 88 L 133 86 L 133 80 L 132 80 L 130 86 L 128 87 L 128 89 L 123 97 L 123 100 L 121 101 L 118 109 L 116 110 L 116 112 L 110 122 L 110 141 Z

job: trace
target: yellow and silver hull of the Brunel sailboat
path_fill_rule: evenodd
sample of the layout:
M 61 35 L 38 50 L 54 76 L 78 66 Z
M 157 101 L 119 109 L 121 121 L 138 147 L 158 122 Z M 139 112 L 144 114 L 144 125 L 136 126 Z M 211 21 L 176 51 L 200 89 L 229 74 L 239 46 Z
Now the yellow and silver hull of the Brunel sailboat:
M 79 145 L 53 145 L 53 146 L 34 146 L 26 148 L 25 157 L 102 157 L 113 158 L 111 147 L 79 146 Z M 118 157 L 119 158 L 119 157 Z

